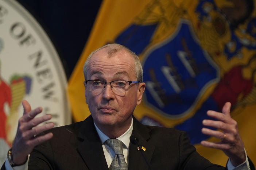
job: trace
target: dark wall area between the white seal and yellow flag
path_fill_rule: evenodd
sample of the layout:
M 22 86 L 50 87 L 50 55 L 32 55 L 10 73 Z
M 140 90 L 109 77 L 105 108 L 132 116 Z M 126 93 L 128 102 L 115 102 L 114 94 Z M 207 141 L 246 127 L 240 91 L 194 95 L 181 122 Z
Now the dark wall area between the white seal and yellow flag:
M 17 0 L 44 28 L 61 58 L 67 79 L 82 53 L 101 0 Z

